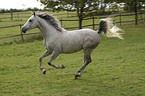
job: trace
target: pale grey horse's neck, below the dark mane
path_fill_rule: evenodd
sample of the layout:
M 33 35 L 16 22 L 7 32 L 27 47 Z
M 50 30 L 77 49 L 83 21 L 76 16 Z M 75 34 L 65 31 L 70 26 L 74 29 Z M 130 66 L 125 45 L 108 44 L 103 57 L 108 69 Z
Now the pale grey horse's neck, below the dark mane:
M 51 25 L 49 25 L 45 20 L 39 18 L 38 22 L 39 22 L 39 29 L 42 33 L 43 39 L 46 40 L 47 38 L 53 37 L 58 33 L 57 30 Z

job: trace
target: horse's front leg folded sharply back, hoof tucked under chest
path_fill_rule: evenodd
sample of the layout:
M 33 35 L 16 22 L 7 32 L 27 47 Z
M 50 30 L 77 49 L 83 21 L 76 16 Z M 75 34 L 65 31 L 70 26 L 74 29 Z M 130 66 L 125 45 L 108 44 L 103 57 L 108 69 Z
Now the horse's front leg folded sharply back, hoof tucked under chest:
M 54 68 L 56 68 L 56 69 L 65 68 L 64 65 L 57 66 L 57 65 L 54 65 L 54 64 L 51 63 L 59 54 L 60 54 L 60 52 L 58 52 L 58 51 L 53 51 L 53 52 L 52 52 L 52 55 L 51 55 L 51 57 L 50 57 L 50 59 L 48 60 L 48 65 L 50 65 L 50 66 L 52 66 L 52 67 L 54 67 Z

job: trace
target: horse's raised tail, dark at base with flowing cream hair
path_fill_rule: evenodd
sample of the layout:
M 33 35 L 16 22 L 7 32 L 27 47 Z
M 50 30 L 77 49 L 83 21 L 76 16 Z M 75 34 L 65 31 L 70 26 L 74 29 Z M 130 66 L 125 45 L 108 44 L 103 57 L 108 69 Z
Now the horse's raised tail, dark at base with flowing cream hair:
M 123 31 L 122 29 L 118 28 L 116 25 L 113 24 L 113 20 L 111 18 L 101 19 L 99 23 L 99 30 L 98 33 L 106 37 L 118 37 L 119 39 L 124 39 L 119 33 Z

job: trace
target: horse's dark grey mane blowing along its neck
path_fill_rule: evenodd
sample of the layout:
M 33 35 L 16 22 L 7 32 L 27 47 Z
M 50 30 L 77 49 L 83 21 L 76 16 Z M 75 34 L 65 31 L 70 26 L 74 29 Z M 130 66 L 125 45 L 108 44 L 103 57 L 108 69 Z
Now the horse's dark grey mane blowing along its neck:
M 59 20 L 57 20 L 56 18 L 54 18 L 52 15 L 49 15 L 47 13 L 37 13 L 37 16 L 39 16 L 40 18 L 45 19 L 56 30 L 58 30 L 59 32 L 62 32 L 62 28 L 61 28 L 61 26 L 58 23 Z

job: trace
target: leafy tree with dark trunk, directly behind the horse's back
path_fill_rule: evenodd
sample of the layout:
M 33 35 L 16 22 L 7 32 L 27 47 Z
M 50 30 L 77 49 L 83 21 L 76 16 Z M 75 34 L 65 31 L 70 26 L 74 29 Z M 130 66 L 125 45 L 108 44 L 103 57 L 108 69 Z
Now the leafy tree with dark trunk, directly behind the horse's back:
M 98 12 L 99 5 L 102 4 L 105 8 L 105 0 L 38 0 L 45 8 L 51 8 L 53 11 L 76 10 L 77 16 L 79 18 L 79 29 L 82 29 L 82 21 L 85 17 L 93 15 Z M 109 2 L 109 0 L 106 0 Z

